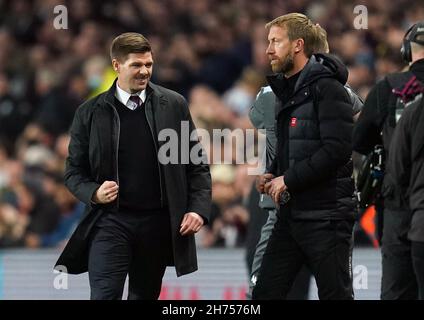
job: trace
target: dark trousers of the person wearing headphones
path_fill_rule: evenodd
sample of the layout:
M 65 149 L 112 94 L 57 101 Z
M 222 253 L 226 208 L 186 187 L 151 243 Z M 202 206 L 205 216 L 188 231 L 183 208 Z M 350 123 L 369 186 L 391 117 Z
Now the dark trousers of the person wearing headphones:
M 411 256 L 408 231 L 409 210 L 384 209 L 382 238 L 382 300 L 415 300 L 418 286 Z

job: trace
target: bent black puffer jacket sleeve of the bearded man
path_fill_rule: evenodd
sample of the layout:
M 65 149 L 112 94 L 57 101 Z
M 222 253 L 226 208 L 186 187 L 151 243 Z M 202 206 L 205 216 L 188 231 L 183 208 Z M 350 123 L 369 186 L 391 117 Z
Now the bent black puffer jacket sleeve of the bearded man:
M 328 179 L 352 155 L 353 110 L 349 95 L 334 79 L 323 79 L 319 84 L 317 112 L 321 147 L 284 173 L 289 190 L 304 190 Z

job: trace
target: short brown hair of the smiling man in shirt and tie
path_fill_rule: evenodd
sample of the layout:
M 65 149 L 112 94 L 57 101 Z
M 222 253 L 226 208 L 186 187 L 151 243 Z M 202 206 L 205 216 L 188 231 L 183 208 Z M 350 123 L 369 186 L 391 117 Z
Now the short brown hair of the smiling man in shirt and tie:
M 110 58 L 125 61 L 130 53 L 152 52 L 149 41 L 140 33 L 126 32 L 117 36 L 110 47 Z

